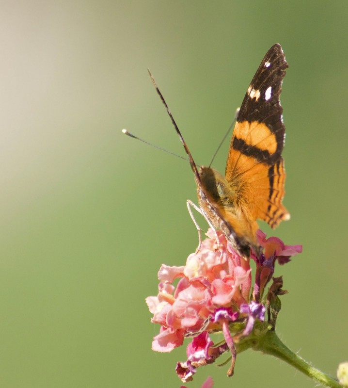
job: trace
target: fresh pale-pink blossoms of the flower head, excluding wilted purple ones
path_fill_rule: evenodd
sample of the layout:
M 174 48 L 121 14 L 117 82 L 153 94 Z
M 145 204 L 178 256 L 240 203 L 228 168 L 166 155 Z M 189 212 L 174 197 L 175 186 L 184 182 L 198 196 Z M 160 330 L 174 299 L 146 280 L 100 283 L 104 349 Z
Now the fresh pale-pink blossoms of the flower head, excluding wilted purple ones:
M 240 258 L 223 233 L 215 233 L 202 242 L 198 253 L 191 254 L 185 267 L 163 264 L 158 271 L 158 295 L 146 298 L 153 313 L 151 322 L 162 326 L 154 338 L 153 349 L 170 352 L 182 344 L 183 333 L 222 330 L 222 323 L 214 322 L 214 312 L 224 307 L 238 311 L 238 306 L 249 302 L 251 269 L 249 261 Z M 176 288 L 173 282 L 180 278 Z

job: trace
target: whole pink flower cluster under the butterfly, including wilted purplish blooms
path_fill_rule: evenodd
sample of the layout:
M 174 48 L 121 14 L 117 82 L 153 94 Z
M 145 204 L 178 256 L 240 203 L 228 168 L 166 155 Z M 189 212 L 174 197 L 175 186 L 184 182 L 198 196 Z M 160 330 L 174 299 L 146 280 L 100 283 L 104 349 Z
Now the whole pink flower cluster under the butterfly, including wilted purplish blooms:
M 256 263 L 252 281 L 250 260 L 240 257 L 225 235 L 209 229 L 198 252 L 191 254 L 185 266 L 163 264 L 158 272 L 158 295 L 146 298 L 153 314 L 151 322 L 161 325 L 152 349 L 170 352 L 193 337 L 187 347 L 187 361 L 179 362 L 176 372 L 182 381 L 192 379 L 196 368 L 215 361 L 229 351 L 233 374 L 236 345 L 253 332 L 256 321 L 265 319 L 263 294 L 272 278 L 275 263 L 284 264 L 300 253 L 301 245 L 287 246 L 275 237 L 266 239 L 258 231 L 257 239 L 264 248 Z M 218 237 L 218 241 L 216 240 Z M 179 279 L 176 287 L 174 280 Z M 224 342 L 214 345 L 209 334 L 222 332 Z

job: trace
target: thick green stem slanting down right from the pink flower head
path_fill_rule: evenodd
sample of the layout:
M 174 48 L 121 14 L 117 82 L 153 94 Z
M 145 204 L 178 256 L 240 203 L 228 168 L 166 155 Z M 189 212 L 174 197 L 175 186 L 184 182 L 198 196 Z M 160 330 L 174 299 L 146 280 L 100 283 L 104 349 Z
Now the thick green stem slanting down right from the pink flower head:
M 268 331 L 254 341 L 253 349 L 280 358 L 324 387 L 342 388 L 336 379 L 312 367 L 303 358 L 288 349 L 275 334 Z

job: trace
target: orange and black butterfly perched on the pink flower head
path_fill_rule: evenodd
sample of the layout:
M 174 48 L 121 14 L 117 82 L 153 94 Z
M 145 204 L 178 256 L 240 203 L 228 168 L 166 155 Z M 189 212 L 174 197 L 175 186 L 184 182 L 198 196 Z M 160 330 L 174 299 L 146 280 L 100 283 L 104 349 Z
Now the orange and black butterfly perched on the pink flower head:
M 257 219 L 274 228 L 290 218 L 282 204 L 285 126 L 279 100 L 287 67 L 281 45 L 275 44 L 258 67 L 237 113 L 224 176 L 210 166 L 197 167 L 149 71 L 195 176 L 199 207 L 191 201 L 188 205 L 193 205 L 215 230 L 221 229 L 235 250 L 246 258 L 251 249 L 256 256 L 261 252 L 256 239 Z

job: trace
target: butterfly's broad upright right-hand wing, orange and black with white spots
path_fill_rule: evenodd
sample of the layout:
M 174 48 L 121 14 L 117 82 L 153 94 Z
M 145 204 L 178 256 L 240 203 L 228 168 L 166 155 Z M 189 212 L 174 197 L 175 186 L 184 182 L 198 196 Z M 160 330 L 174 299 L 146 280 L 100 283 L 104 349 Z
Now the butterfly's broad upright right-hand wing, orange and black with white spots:
M 248 218 L 275 227 L 288 219 L 282 205 L 285 169 L 281 157 L 285 127 L 279 96 L 288 67 L 279 44 L 272 46 L 244 97 L 237 114 L 225 176 L 237 193 L 237 207 Z M 242 201 L 239 201 L 241 198 Z

